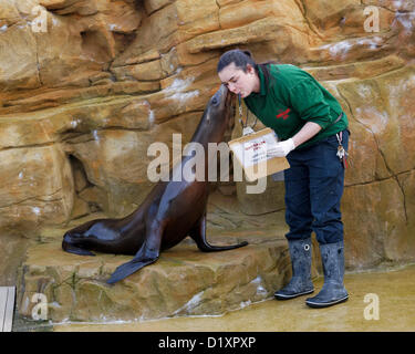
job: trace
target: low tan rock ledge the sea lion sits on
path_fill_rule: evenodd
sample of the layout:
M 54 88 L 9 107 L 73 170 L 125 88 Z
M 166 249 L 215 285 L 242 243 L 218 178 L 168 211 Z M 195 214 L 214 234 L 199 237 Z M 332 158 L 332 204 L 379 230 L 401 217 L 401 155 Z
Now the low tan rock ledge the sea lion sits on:
M 200 252 L 187 238 L 163 252 L 156 263 L 114 285 L 105 280 L 129 256 L 81 257 L 63 252 L 59 239 L 37 243 L 28 249 L 20 268 L 19 314 L 33 317 L 34 306 L 39 309 L 34 294 L 44 295 L 46 319 L 53 323 L 219 315 L 237 310 L 271 298 L 291 275 L 283 236 L 261 233 L 216 232 L 209 236 L 214 244 L 247 240 L 249 246 L 214 253 Z

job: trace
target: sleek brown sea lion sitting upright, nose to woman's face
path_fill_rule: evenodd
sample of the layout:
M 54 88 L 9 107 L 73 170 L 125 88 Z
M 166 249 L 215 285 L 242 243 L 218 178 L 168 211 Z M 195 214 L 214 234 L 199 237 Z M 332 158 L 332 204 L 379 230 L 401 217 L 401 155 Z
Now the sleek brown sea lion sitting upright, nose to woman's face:
M 205 152 L 205 179 L 173 180 L 191 156 L 170 169 L 168 181 L 158 181 L 142 205 L 122 219 L 97 219 L 68 231 L 62 248 L 66 252 L 94 256 L 91 250 L 107 253 L 135 254 L 120 266 L 107 283 L 112 284 L 141 268 L 155 262 L 159 252 L 179 243 L 187 236 L 204 252 L 225 251 L 248 244 L 212 246 L 206 239 L 206 205 L 209 195 L 208 143 L 220 143 L 234 122 L 234 100 L 225 85 L 209 100 L 191 138 Z

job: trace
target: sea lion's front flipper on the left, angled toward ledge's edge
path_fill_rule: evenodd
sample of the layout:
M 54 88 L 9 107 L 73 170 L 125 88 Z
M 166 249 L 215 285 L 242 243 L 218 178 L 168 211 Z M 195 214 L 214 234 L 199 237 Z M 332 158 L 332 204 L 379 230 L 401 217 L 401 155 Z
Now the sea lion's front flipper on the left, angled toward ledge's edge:
M 108 284 L 125 279 L 143 267 L 154 263 L 158 259 L 164 225 L 154 220 L 147 230 L 148 233 L 146 236 L 146 241 L 139 248 L 138 252 L 129 262 L 121 264 L 115 269 L 114 273 L 112 273 L 111 278 L 106 281 Z

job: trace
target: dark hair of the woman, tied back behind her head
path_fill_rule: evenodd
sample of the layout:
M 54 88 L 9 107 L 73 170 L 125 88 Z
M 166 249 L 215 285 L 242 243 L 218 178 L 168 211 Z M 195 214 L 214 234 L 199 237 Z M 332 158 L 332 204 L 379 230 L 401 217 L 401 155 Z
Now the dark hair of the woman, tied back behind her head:
M 259 74 L 259 67 L 262 71 L 266 87 L 269 87 L 270 82 L 272 81 L 272 76 L 270 74 L 270 64 L 276 64 L 273 61 L 264 62 L 257 64 L 252 58 L 250 51 L 242 51 L 240 49 L 234 49 L 230 51 L 225 52 L 218 62 L 217 72 L 220 73 L 226 66 L 230 65 L 231 63 L 235 64 L 236 67 L 242 70 L 245 73 L 247 72 L 247 65 L 251 65 L 257 74 Z

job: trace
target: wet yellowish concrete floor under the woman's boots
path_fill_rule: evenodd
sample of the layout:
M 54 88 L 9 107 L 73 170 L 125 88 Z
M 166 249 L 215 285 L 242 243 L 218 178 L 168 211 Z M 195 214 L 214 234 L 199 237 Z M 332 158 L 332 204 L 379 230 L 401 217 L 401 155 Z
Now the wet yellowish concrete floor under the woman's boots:
M 174 317 L 116 324 L 60 324 L 55 332 L 378 332 L 415 331 L 415 264 L 398 270 L 347 273 L 350 299 L 326 309 L 310 309 L 308 295 L 268 300 L 221 316 Z M 314 281 L 315 292 L 323 278 Z

